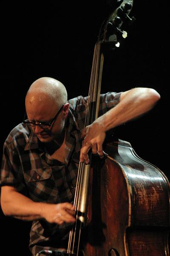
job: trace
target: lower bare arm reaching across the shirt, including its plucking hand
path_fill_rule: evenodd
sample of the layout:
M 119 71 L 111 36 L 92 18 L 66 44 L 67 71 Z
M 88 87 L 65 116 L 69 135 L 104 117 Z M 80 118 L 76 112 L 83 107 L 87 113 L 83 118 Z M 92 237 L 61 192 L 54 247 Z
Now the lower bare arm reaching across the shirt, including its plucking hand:
M 49 223 L 56 224 L 75 221 L 72 204 L 34 202 L 17 192 L 13 186 L 3 186 L 1 188 L 0 203 L 5 215 L 21 220 L 45 219 Z

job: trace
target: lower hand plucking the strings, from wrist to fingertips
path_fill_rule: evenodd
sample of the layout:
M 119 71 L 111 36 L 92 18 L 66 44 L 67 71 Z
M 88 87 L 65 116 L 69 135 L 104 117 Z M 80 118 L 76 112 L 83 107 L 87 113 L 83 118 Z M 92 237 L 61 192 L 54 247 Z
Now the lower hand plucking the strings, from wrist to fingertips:
M 42 218 L 49 223 L 63 224 L 75 222 L 74 207 L 70 203 L 42 204 Z

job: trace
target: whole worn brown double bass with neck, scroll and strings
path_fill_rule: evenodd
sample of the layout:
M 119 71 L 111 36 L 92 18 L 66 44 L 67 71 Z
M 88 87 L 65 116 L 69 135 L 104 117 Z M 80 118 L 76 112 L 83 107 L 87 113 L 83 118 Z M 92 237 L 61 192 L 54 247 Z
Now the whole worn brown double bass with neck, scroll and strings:
M 104 55 L 116 50 L 127 32 L 123 24 L 133 0 L 118 0 L 104 21 L 94 49 L 85 127 L 98 117 Z M 123 39 L 122 39 L 123 38 Z M 170 183 L 164 173 L 141 159 L 130 143 L 108 134 L 105 157 L 90 153 L 79 163 L 74 200 L 76 223 L 63 256 L 169 256 Z

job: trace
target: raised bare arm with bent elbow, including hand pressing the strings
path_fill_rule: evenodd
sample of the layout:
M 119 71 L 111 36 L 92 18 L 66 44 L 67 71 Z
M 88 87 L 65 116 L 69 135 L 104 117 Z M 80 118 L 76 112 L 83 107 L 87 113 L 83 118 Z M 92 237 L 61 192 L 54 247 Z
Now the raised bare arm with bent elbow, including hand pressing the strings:
M 106 131 L 150 111 L 159 99 L 159 93 L 151 88 L 134 88 L 122 93 L 120 102 L 116 107 L 85 128 L 80 161 L 89 162 L 88 151 L 90 148 L 94 154 L 98 152 L 99 156 L 102 157 L 102 143 L 105 140 Z

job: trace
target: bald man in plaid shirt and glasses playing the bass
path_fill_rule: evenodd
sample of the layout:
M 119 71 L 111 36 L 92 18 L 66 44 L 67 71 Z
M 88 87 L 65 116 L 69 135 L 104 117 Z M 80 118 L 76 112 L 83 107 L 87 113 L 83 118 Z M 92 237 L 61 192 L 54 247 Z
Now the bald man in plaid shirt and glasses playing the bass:
M 0 185 L 4 214 L 33 221 L 33 255 L 66 248 L 79 160 L 89 162 L 90 148 L 102 158 L 106 131 L 146 113 L 159 98 L 150 88 L 102 94 L 99 118 L 84 129 L 87 97 L 68 101 L 64 85 L 49 77 L 31 84 L 26 121 L 4 143 Z

